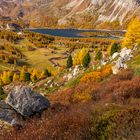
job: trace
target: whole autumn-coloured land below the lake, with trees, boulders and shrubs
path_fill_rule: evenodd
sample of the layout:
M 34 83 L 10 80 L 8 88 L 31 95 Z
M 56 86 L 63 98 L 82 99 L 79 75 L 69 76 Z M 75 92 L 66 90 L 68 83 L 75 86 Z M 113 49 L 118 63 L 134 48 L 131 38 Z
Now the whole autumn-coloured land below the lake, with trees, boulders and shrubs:
M 0 37 L 1 140 L 140 139 L 139 18 L 118 40 Z

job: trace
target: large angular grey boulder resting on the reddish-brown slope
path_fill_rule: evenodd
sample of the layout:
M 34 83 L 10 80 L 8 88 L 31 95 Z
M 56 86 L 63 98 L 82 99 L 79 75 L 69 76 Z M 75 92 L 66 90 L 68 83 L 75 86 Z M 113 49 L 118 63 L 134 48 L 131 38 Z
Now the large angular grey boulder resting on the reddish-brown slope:
M 6 103 L 24 117 L 41 113 L 49 107 L 49 101 L 26 86 L 15 87 L 6 98 Z

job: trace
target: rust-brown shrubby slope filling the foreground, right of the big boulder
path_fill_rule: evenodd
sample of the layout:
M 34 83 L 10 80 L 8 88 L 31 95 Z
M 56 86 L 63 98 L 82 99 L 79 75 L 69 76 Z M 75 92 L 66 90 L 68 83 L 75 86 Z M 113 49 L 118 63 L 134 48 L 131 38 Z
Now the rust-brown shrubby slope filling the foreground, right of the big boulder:
M 0 140 L 138 140 L 139 91 L 140 77 L 132 70 L 80 83 L 50 95 L 51 107 L 21 130 L 0 130 Z

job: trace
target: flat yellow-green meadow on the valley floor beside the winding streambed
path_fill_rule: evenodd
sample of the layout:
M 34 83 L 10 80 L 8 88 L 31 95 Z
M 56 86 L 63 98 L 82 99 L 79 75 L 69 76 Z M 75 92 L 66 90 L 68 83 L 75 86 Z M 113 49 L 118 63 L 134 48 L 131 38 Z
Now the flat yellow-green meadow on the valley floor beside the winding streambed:
M 27 58 L 27 63 L 32 66 L 35 67 L 39 70 L 43 70 L 46 68 L 49 69 L 57 69 L 53 66 L 53 64 L 49 61 L 49 59 L 51 58 L 56 58 L 56 57 L 64 57 L 64 55 L 62 54 L 63 52 L 65 52 L 64 48 L 60 48 L 59 50 L 55 50 L 55 53 L 52 53 L 51 49 L 47 49 L 47 48 L 40 48 L 40 49 L 36 49 L 34 51 L 23 51 L 23 54 L 26 56 Z M 66 59 L 61 59 L 61 60 L 55 60 L 55 63 L 59 63 L 60 65 L 65 65 L 65 61 Z

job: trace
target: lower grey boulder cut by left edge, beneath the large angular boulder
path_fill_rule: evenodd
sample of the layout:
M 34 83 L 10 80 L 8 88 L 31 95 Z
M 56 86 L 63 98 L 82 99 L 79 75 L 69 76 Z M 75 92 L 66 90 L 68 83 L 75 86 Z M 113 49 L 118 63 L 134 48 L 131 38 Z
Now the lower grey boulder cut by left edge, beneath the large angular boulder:
M 0 127 L 22 125 L 22 117 L 4 101 L 0 101 Z

